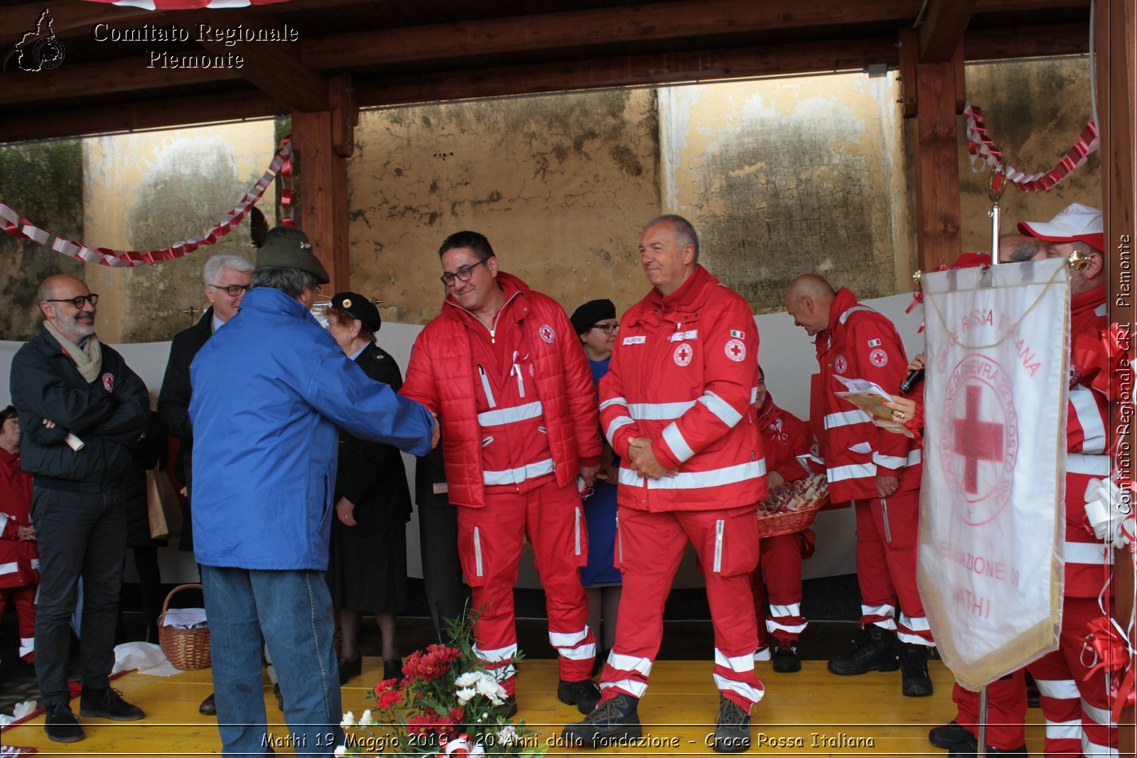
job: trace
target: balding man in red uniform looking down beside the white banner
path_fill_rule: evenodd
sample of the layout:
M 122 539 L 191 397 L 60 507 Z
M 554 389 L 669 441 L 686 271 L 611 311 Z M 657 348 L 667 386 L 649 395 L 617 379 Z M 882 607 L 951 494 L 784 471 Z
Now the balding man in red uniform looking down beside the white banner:
M 865 411 L 835 394 L 847 390 L 838 377 L 868 380 L 896 392 L 908 363 L 904 344 L 890 320 L 857 303 L 848 289 L 833 291 L 816 274 L 802 274 L 790 283 L 786 313 L 818 338 L 829 495 L 833 502 L 852 500 L 856 509 L 864 640 L 849 655 L 830 660 L 829 670 L 848 676 L 901 668 L 904 694 L 931 694 L 931 631 L 916 589 L 919 449 L 903 434 L 874 426 Z

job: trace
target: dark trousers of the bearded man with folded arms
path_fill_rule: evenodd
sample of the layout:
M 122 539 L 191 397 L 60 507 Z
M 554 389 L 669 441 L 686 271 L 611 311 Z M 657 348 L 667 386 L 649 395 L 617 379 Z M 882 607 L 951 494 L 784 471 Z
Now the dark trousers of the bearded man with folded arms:
M 35 616 L 35 675 L 45 706 L 70 700 L 67 691 L 68 620 L 83 577 L 80 653 L 83 686 L 108 686 L 115 665 L 115 623 L 126 551 L 126 507 L 118 483 L 99 492 L 36 486 L 32 519 L 40 548 L 40 602 Z

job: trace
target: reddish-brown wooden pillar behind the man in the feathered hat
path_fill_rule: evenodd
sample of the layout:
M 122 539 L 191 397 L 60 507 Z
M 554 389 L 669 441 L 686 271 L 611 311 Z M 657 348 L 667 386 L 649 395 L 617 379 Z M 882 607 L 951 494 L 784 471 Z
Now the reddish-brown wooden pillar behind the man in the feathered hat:
M 299 156 L 300 223 L 331 282 L 326 295 L 350 289 L 348 267 L 348 166 L 332 145 L 332 114 L 292 111 Z

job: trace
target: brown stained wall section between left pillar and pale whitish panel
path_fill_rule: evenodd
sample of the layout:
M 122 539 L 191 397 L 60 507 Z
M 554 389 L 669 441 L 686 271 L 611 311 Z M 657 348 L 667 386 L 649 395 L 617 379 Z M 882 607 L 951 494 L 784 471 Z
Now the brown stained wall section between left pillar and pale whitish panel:
M 659 213 L 652 91 L 364 113 L 348 167 L 351 286 L 384 320 L 438 315 L 438 248 L 485 234 L 503 269 L 572 313 L 646 292 L 637 244 Z

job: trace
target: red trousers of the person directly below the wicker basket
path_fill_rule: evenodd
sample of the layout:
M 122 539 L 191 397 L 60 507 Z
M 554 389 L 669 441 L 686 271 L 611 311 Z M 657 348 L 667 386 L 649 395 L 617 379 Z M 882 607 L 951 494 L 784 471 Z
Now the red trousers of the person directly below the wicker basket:
M 808 623 L 802 616 L 802 559 L 812 553 L 815 540 L 813 530 L 762 538 L 761 558 L 750 585 L 754 590 L 754 615 L 765 617 L 758 622 L 758 650 L 766 648 L 766 633 L 787 644 L 797 641 Z M 769 593 L 770 609 L 766 613 Z M 760 652 L 760 660 L 762 659 Z

